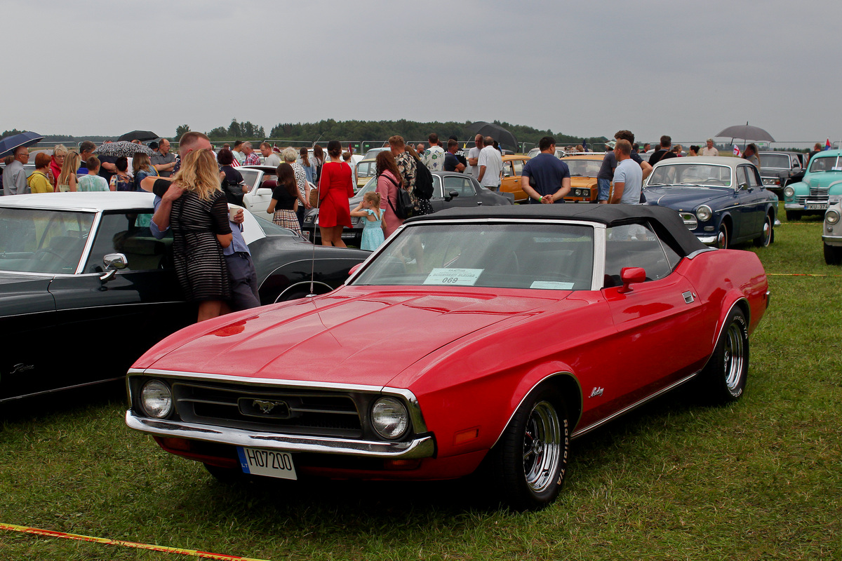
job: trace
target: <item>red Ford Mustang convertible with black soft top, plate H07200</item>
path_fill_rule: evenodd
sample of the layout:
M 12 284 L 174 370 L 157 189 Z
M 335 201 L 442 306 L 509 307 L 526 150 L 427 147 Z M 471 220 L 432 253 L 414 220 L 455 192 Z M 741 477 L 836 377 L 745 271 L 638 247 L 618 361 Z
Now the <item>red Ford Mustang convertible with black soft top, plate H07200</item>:
M 769 304 L 748 251 L 674 210 L 408 220 L 330 294 L 209 320 L 131 368 L 128 426 L 211 474 L 446 479 L 556 498 L 570 441 L 679 384 L 738 400 Z

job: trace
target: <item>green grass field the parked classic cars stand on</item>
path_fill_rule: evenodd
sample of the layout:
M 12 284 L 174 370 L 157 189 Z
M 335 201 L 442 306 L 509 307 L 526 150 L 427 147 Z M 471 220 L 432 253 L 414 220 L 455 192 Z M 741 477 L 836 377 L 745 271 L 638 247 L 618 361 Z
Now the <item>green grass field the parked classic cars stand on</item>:
M 842 558 L 842 269 L 820 231 L 757 250 L 772 300 L 743 400 L 679 391 L 575 441 L 544 511 L 465 482 L 229 488 L 129 431 L 117 390 L 0 417 L 0 522 L 260 559 Z M 162 558 L 184 557 L 0 530 L 4 560 Z

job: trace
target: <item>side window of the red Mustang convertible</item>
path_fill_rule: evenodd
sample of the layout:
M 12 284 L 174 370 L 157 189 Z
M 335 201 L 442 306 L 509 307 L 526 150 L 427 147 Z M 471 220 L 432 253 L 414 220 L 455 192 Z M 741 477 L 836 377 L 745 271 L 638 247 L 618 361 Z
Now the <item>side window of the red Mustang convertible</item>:
M 642 267 L 646 280 L 652 281 L 672 273 L 680 261 L 648 224 L 613 226 L 606 233 L 605 288 L 622 285 L 620 273 L 625 267 Z

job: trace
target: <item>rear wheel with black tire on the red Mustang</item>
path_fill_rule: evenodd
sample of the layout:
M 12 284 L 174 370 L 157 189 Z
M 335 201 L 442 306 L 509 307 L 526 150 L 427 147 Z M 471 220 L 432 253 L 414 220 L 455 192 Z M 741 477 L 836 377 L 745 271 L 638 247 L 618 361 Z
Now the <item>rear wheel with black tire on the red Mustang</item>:
M 702 390 L 713 403 L 740 399 L 749 374 L 749 323 L 734 308 L 725 320 L 711 358 L 701 371 Z

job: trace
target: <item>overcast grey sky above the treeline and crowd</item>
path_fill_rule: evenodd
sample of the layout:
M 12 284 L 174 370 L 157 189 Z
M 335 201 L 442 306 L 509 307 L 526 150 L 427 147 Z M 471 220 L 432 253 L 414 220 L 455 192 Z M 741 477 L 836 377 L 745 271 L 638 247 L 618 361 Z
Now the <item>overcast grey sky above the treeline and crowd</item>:
M 0 6 L 0 130 L 499 119 L 689 141 L 749 121 L 842 137 L 839 0 Z

